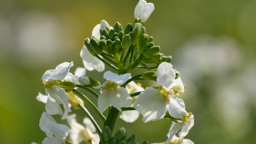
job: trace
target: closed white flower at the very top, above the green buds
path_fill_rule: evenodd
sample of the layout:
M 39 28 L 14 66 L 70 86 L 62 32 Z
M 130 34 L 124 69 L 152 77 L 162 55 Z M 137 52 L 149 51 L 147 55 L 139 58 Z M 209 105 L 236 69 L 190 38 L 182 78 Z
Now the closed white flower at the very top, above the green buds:
M 155 7 L 153 3 L 147 3 L 146 0 L 140 0 L 135 7 L 134 16 L 135 18 L 141 18 L 141 22 L 145 22 L 154 9 Z

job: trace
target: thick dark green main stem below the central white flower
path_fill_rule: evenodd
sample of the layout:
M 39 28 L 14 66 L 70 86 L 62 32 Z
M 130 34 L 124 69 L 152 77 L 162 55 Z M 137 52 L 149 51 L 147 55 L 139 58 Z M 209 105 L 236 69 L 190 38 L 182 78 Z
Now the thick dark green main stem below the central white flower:
M 113 128 L 114 128 L 115 123 L 116 123 L 116 118 L 118 117 L 118 114 L 119 114 L 119 111 L 116 108 L 111 107 L 110 110 L 109 110 L 109 113 L 107 114 L 107 119 L 104 122 L 103 128 L 105 128 L 105 126 L 109 126 L 109 128 L 111 130 L 111 133 L 112 133 Z

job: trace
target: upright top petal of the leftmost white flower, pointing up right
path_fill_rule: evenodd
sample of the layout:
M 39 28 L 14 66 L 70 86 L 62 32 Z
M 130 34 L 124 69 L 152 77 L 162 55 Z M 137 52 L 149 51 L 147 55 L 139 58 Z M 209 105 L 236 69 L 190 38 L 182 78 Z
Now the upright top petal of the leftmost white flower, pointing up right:
M 51 73 L 49 76 L 49 80 L 63 80 L 65 76 L 67 76 L 70 68 L 73 66 L 73 61 L 69 62 L 64 62 L 60 65 L 58 65 L 55 70 Z

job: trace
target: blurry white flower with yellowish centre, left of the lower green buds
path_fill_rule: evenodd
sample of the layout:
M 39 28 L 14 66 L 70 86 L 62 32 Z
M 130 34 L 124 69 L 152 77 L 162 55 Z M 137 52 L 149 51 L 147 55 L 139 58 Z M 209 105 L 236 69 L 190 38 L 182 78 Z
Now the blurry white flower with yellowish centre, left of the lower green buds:
M 69 137 L 73 144 L 79 144 L 82 141 L 88 144 L 90 144 L 89 141 L 91 141 L 92 144 L 98 144 L 100 142 L 99 135 L 94 133 L 96 132 L 95 127 L 87 117 L 83 119 L 85 127 L 76 122 L 76 114 L 68 116 L 67 122 L 71 127 Z

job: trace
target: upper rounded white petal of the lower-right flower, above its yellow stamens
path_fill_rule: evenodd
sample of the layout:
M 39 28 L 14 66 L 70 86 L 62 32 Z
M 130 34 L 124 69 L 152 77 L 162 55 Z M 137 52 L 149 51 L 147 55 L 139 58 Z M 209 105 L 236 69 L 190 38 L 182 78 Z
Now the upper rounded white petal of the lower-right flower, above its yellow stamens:
M 183 117 L 188 114 L 186 110 L 184 110 L 179 103 L 171 98 L 169 103 L 169 113 L 172 117 L 176 119 L 183 119 Z

